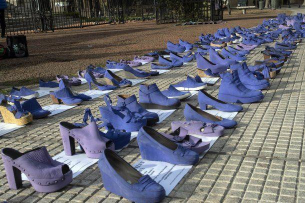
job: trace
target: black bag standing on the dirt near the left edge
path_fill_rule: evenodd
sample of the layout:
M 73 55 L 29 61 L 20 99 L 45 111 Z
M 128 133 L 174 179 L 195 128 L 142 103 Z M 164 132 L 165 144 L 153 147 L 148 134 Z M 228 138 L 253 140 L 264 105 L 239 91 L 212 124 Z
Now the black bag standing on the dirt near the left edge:
M 6 36 L 8 57 L 28 56 L 27 41 L 25 35 Z

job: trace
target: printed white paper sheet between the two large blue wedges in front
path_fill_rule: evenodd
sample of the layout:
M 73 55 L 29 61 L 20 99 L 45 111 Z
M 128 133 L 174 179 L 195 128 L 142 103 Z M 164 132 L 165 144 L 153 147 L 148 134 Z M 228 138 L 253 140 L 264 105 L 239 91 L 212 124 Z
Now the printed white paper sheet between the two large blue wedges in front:
M 133 167 L 142 174 L 148 174 L 153 180 L 162 185 L 168 195 L 191 165 L 173 165 L 167 162 L 140 159 Z

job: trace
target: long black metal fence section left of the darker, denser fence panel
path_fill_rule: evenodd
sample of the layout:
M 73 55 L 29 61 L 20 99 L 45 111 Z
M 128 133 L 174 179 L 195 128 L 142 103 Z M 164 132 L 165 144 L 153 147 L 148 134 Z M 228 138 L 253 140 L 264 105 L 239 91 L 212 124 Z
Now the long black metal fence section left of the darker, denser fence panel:
M 154 0 L 6 0 L 6 33 L 23 34 L 154 18 Z

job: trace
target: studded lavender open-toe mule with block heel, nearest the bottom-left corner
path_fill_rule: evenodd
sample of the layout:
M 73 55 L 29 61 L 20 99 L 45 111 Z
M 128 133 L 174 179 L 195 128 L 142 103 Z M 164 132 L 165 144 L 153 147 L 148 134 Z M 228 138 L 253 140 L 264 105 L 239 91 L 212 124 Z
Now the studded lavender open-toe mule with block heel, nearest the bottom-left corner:
M 69 166 L 53 160 L 45 146 L 23 153 L 12 148 L 2 148 L 1 156 L 11 189 L 22 187 L 21 172 L 38 192 L 54 192 L 72 181 Z

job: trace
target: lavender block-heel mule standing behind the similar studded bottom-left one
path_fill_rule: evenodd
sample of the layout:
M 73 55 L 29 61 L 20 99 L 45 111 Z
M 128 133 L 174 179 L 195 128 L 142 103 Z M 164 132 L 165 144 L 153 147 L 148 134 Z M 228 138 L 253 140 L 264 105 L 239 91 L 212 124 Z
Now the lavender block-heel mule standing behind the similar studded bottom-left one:
M 89 158 L 99 158 L 106 148 L 114 150 L 114 143 L 99 135 L 94 120 L 84 127 L 78 127 L 69 122 L 59 122 L 59 130 L 65 155 L 75 154 L 75 139 Z

